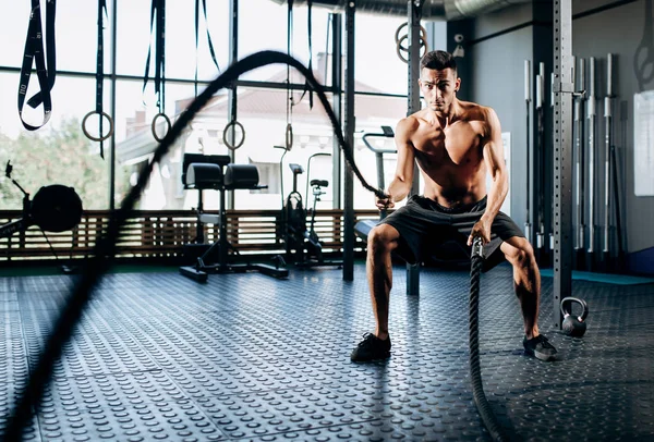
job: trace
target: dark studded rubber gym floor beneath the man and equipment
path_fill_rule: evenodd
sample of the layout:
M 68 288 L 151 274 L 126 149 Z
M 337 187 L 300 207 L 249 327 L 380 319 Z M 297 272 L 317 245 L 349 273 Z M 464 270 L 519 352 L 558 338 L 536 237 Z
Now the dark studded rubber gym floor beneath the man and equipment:
M 423 269 L 407 296 L 395 269 L 388 361 L 349 355 L 374 321 L 365 268 L 107 274 L 25 430 L 31 441 L 484 441 L 468 371 L 469 273 Z M 0 434 L 73 275 L 0 278 Z M 522 352 L 511 269 L 482 277 L 486 395 L 512 440 L 654 440 L 654 284 L 573 280 L 589 330 L 541 331 L 554 363 Z

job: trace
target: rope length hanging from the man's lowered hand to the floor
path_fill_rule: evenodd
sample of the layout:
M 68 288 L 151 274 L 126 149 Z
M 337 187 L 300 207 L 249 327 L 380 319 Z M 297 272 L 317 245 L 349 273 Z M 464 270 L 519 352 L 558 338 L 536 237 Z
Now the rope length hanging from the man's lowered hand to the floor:
M 482 372 L 480 368 L 480 280 L 484 265 L 484 248 L 481 237 L 475 237 L 472 243 L 470 268 L 470 379 L 472 395 L 480 412 L 482 421 L 494 441 L 506 441 L 502 428 L 491 408 L 484 394 Z

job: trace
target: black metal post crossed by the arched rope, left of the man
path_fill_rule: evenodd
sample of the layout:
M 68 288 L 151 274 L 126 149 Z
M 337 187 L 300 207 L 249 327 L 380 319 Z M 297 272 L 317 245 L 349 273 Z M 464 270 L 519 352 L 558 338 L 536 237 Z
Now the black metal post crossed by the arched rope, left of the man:
M 354 12 L 355 0 L 346 7 L 346 112 L 344 136 L 354 155 Z M 349 167 L 343 174 L 343 280 L 354 280 L 354 175 Z

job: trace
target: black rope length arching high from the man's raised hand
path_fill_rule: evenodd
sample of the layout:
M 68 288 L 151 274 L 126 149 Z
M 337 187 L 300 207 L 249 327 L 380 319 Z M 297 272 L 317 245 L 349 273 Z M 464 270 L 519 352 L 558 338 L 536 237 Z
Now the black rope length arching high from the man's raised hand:
M 132 187 L 131 192 L 123 199 L 120 209 L 114 211 L 109 218 L 106 233 L 98 238 L 96 247 L 92 254 L 92 258 L 86 261 L 85 269 L 82 271 L 80 280 L 73 287 L 73 293 L 71 294 L 69 302 L 62 308 L 59 318 L 55 321 L 52 332 L 46 341 L 44 351 L 38 357 L 36 367 L 29 377 L 27 385 L 25 386 L 25 390 L 23 390 L 20 398 L 16 401 L 16 405 L 12 409 L 7 425 L 4 440 L 20 441 L 23 428 L 29 423 L 32 418 L 32 410 L 38 409 L 44 389 L 49 383 L 52 376 L 52 367 L 61 356 L 63 345 L 73 334 L 73 331 L 80 321 L 86 305 L 88 304 L 93 288 L 97 285 L 100 277 L 108 269 L 110 261 L 116 254 L 116 242 L 118 235 L 125 221 L 132 213 L 134 205 L 147 186 L 154 165 L 159 163 L 161 158 L 168 154 L 170 147 L 179 138 L 184 127 L 186 127 L 195 114 L 197 114 L 197 112 L 206 106 L 209 99 L 218 90 L 228 87 L 245 72 L 275 63 L 288 64 L 292 67 L 295 67 L 306 78 L 311 88 L 316 91 L 323 108 L 325 108 L 325 111 L 329 116 L 329 121 L 334 126 L 335 135 L 339 142 L 350 169 L 352 169 L 363 187 L 370 192 L 373 192 L 379 198 L 388 197 L 383 191 L 371 186 L 356 168 L 353 154 L 350 150 L 350 146 L 346 142 L 334 110 L 327 100 L 327 96 L 325 95 L 320 84 L 315 79 L 313 73 L 308 71 L 308 69 L 306 69 L 304 65 L 302 65 L 302 63 L 292 57 L 277 51 L 256 52 L 232 64 L 221 75 L 214 79 L 207 86 L 207 88 L 195 100 L 193 100 L 189 108 L 180 114 L 178 121 L 172 125 L 170 131 L 168 131 L 155 150 L 153 160 L 141 171 L 136 185 Z

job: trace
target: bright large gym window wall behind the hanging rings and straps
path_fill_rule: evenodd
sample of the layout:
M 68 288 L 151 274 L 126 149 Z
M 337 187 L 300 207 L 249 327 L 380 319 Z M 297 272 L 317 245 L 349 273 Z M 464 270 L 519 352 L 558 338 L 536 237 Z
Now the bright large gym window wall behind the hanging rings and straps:
M 150 81 L 143 90 L 148 49 L 153 44 L 150 34 L 150 2 L 131 2 L 117 0 L 116 66 L 112 65 L 113 17 L 112 2 L 108 2 L 108 15 L 104 19 L 105 37 L 105 78 L 104 110 L 111 112 L 112 99 L 116 100 L 116 121 L 113 138 L 102 146 L 105 159 L 99 157 L 100 144 L 88 140 L 82 133 L 81 122 L 87 112 L 96 107 L 96 51 L 97 51 L 97 3 L 70 0 L 57 8 L 57 67 L 58 76 L 52 89 L 52 116 L 39 131 L 34 133 L 23 128 L 16 110 L 15 98 L 19 88 L 19 70 L 23 61 L 25 36 L 29 19 L 29 4 L 17 3 L 0 16 L 0 37 L 5 42 L 0 47 L 0 91 L 5 99 L 0 102 L 0 152 L 2 160 L 11 159 L 14 164 L 14 176 L 24 176 L 25 187 L 38 187 L 46 183 L 74 185 L 83 195 L 84 207 L 89 209 L 108 209 L 120 206 L 126 192 L 131 188 L 135 172 L 152 158 L 157 142 L 152 134 L 152 121 L 160 109 L 154 94 L 154 53 L 150 60 Z M 329 9 L 314 5 L 312 22 L 313 67 L 318 81 L 331 83 L 331 21 Z M 278 4 L 270 0 L 249 0 L 241 2 L 239 11 L 239 57 L 258 50 L 274 49 L 287 51 L 287 4 Z M 201 17 L 198 28 L 198 48 L 195 48 L 194 9 L 184 0 L 169 0 L 166 13 L 166 97 L 162 110 L 171 123 L 194 98 L 194 77 L 197 59 L 197 76 L 201 81 L 198 90 L 203 90 L 206 82 L 218 74 L 209 54 L 207 27 L 211 36 L 213 47 L 218 64 L 223 70 L 229 59 L 229 2 L 207 2 L 207 22 Z M 405 93 L 407 70 L 399 59 L 396 60 L 393 35 L 395 29 L 403 22 L 403 17 L 385 17 L 383 15 L 356 14 L 356 89 L 365 93 L 365 98 L 358 96 L 356 123 L 358 131 L 367 131 L 380 124 L 395 127 L 404 111 L 386 115 L 388 102 L 393 98 L 384 94 Z M 271 23 L 276 25 L 272 26 Z M 344 27 L 344 26 L 343 26 Z M 254 30 L 253 30 L 254 29 Z M 263 30 L 258 32 L 259 29 Z M 293 15 L 291 51 L 304 64 L 308 63 L 307 8 L 296 5 Z M 384 41 L 389 40 L 386 45 Z M 388 47 L 388 48 L 387 48 Z M 382 52 L 386 56 L 382 56 Z M 378 60 L 385 59 L 382 69 Z M 110 74 L 116 70 L 117 79 L 112 83 Z M 256 87 L 239 87 L 238 115 L 246 131 L 244 145 L 235 151 L 235 162 L 249 162 L 250 159 L 261 165 L 262 183 L 268 189 L 257 193 L 240 192 L 234 199 L 235 208 L 262 207 L 279 209 L 282 194 L 292 187 L 290 162 L 307 165 L 308 158 L 317 152 L 331 154 L 332 130 L 322 107 L 315 103 L 308 109 L 308 96 L 300 101 L 301 90 L 293 93 L 298 105 L 293 108 L 294 147 L 289 152 L 281 172 L 276 177 L 275 168 L 267 165 L 279 162 L 282 150 L 274 146 L 284 145 L 287 126 L 287 70 L 282 65 L 261 69 L 243 76 L 243 79 L 259 82 Z M 299 73 L 291 70 L 290 82 L 303 84 Z M 205 82 L 205 83 L 202 83 Z M 28 96 L 37 89 L 37 79 L 33 75 Z M 116 84 L 116 90 L 112 85 Z M 281 88 L 279 86 L 282 86 Z M 379 94 L 379 95 L 377 95 Z M 247 98 L 259 105 L 249 108 Z M 364 102 L 370 101 L 367 105 Z M 398 98 L 403 108 L 403 99 Z M 370 105 L 370 106 L 368 106 Z M 395 108 L 395 105 L 392 106 Z M 384 110 L 384 115 L 379 112 Z M 371 111 L 371 112 L 368 112 Z M 25 119 L 38 122 L 41 109 L 26 109 Z M 397 113 L 397 115 L 396 115 Z M 147 195 L 144 195 L 140 208 L 190 209 L 196 201 L 195 193 L 184 192 L 181 184 L 181 162 L 183 152 L 229 154 L 222 142 L 222 130 L 229 122 L 227 90 L 218 94 L 207 109 L 195 119 L 181 139 L 175 143 L 170 155 L 156 168 L 152 176 Z M 155 124 L 159 136 L 164 135 L 165 120 Z M 108 130 L 104 124 L 104 131 Z M 97 135 L 98 118 L 88 119 L 88 131 Z M 116 158 L 110 156 L 112 140 L 116 143 Z M 74 154 L 68 154 L 68 146 L 74 145 Z M 44 146 L 38 155 L 28 155 L 31 149 L 21 146 Z M 360 154 L 358 154 L 359 156 Z M 364 155 L 364 154 L 361 154 Z M 27 158 L 29 157 L 29 158 Z M 65 157 L 65 161 L 60 158 Z M 265 157 L 265 158 L 263 158 Z M 372 157 L 371 157 L 372 158 Z M 69 159 L 77 161 L 69 169 L 60 171 L 59 167 L 68 164 Z M 113 201 L 109 201 L 111 161 L 114 160 Z M 362 158 L 362 164 L 372 163 L 370 158 Z M 315 167 L 298 179 L 298 186 L 306 192 L 307 181 L 312 179 L 332 181 L 332 163 L 330 158 L 320 157 Z M 25 163 L 29 164 L 26 165 Z M 3 164 L 1 164 L 3 165 Z M 341 164 L 342 167 L 342 164 Z M 33 171 L 33 172 L 26 172 Z M 387 171 L 388 173 L 388 171 Z M 28 175 L 28 176 L 27 176 Z M 376 172 L 367 172 L 371 181 Z M 267 183 L 266 183 L 267 182 Z M 278 184 L 276 184 L 278 182 Z M 20 198 L 15 198 L 14 189 L 8 187 L 8 181 L 0 182 L 3 209 L 20 209 Z M 359 186 L 359 184 L 356 184 Z M 93 192 L 90 191 L 93 188 Z M 160 192 L 160 195 L 157 195 Z M 342 186 L 341 186 L 342 192 Z M 356 207 L 371 207 L 371 198 L 356 187 Z M 262 202 L 261 198 L 268 198 Z M 305 195 L 311 197 L 311 195 Z M 148 200 L 148 198 L 152 198 Z M 327 194 L 319 205 L 332 208 L 332 195 Z M 262 206 L 263 204 L 263 206 Z

